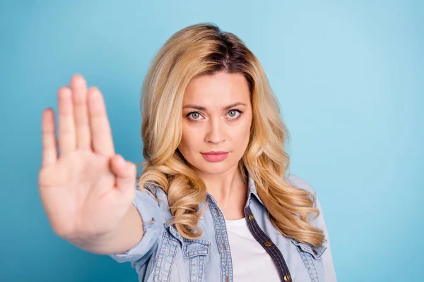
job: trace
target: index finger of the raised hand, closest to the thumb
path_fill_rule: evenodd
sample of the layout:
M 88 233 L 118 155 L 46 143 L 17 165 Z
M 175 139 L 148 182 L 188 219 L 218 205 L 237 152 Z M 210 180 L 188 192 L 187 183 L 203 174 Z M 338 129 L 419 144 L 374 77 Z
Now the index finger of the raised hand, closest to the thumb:
M 105 101 L 97 87 L 88 90 L 88 114 L 93 150 L 98 154 L 113 156 L 112 130 L 107 119 Z

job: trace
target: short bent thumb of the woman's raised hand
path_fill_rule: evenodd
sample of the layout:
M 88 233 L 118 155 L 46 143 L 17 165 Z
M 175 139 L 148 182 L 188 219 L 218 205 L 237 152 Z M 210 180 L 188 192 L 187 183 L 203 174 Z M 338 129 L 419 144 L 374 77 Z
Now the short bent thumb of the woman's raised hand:
M 116 184 L 119 190 L 126 192 L 128 189 L 135 189 L 137 168 L 131 161 L 125 161 L 121 155 L 116 154 L 112 158 L 112 173 L 117 177 Z

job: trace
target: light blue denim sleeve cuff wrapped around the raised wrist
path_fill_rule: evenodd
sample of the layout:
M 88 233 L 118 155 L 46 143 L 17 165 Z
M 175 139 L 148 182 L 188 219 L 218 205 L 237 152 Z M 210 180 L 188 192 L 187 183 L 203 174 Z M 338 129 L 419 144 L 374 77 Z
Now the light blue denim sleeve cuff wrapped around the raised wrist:
M 157 200 L 146 189 L 143 191 L 136 189 L 133 204 L 143 219 L 143 238 L 130 250 L 109 256 L 117 262 L 131 262 L 133 267 L 135 264 L 140 267 L 148 262 L 155 245 L 158 244 L 160 231 L 163 228 L 163 214 Z

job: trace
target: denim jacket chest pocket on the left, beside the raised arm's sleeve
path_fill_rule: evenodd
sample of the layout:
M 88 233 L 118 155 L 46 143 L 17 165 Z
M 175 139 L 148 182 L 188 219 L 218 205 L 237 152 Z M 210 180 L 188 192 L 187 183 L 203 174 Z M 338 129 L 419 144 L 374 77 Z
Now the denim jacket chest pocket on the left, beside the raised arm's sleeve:
M 153 281 L 172 281 L 172 266 L 179 271 L 187 270 L 187 281 L 201 282 L 204 274 L 204 258 L 208 255 L 211 242 L 208 240 L 183 238 L 174 226 L 165 226 L 160 240 Z M 177 255 L 181 252 L 181 256 Z

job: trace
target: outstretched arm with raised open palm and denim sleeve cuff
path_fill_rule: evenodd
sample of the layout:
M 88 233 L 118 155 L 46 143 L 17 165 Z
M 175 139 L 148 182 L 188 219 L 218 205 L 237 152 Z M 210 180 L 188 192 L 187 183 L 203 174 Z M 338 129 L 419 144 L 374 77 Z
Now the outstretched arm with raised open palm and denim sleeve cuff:
M 134 188 L 136 165 L 116 154 L 102 93 L 74 75 L 70 87 L 59 89 L 58 102 L 58 137 L 54 111 L 42 114 L 38 173 L 53 231 L 88 252 L 124 254 L 141 245 L 142 256 L 157 240 L 152 234 L 162 227 L 162 212 L 151 195 Z

